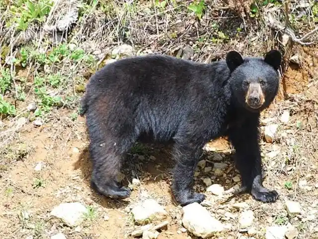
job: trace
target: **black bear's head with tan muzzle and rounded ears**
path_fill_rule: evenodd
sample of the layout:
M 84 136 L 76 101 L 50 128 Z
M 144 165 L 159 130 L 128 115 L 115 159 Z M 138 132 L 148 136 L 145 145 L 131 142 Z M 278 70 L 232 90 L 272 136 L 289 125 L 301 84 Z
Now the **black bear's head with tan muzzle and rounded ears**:
M 271 50 L 264 58 L 247 57 L 230 51 L 226 63 L 231 76 L 228 80 L 234 101 L 245 109 L 257 112 L 265 109 L 273 101 L 279 87 L 278 68 L 282 55 Z

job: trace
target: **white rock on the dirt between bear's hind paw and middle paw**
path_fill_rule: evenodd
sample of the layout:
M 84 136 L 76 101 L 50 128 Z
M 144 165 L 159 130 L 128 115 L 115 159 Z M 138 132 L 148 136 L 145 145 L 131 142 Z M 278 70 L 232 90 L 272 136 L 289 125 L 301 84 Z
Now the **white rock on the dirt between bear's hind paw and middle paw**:
M 154 219 L 164 219 L 167 212 L 154 199 L 147 199 L 142 205 L 132 209 L 134 219 L 139 224 L 144 224 Z

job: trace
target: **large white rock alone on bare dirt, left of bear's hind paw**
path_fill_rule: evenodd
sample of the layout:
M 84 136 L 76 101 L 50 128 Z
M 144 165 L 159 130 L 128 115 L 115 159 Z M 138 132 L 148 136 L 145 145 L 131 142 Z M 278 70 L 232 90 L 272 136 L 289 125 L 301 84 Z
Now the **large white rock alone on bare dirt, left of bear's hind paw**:
M 86 212 L 86 207 L 81 203 L 61 203 L 52 210 L 51 216 L 60 218 L 70 227 L 75 227 L 83 221 L 83 214 Z

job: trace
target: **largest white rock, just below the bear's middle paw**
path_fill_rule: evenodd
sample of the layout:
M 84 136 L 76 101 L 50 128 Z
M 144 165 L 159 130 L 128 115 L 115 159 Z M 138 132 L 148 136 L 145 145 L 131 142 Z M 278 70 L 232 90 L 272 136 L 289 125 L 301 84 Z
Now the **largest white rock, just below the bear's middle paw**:
M 209 238 L 224 230 L 224 225 L 196 202 L 183 207 L 182 224 L 190 233 L 202 238 Z

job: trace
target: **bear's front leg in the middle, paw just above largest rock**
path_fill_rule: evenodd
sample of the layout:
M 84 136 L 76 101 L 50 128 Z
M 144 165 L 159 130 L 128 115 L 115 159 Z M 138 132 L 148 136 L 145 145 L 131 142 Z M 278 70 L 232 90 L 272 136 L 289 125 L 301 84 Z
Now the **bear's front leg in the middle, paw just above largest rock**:
M 204 194 L 192 191 L 194 171 L 202 155 L 202 146 L 180 141 L 174 145 L 173 158 L 176 165 L 173 169 L 172 192 L 181 206 L 201 203 L 205 199 Z

